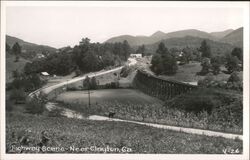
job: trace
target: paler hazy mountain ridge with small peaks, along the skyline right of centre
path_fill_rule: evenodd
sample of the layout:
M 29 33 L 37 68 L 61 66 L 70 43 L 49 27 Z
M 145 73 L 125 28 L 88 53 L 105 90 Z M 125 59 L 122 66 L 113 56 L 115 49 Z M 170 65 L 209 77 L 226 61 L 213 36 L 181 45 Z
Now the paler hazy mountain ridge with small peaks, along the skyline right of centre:
M 162 31 L 157 31 L 151 36 L 131 36 L 131 35 L 122 35 L 108 39 L 107 43 L 115 43 L 115 42 L 123 42 L 127 40 L 131 46 L 138 46 L 142 44 L 153 44 L 163 39 L 168 38 L 175 38 L 175 37 L 185 37 L 185 36 L 194 36 L 200 38 L 206 38 L 211 40 L 216 40 L 217 38 L 213 35 L 199 31 L 196 29 L 188 29 L 188 30 L 181 30 L 176 32 L 164 33 Z

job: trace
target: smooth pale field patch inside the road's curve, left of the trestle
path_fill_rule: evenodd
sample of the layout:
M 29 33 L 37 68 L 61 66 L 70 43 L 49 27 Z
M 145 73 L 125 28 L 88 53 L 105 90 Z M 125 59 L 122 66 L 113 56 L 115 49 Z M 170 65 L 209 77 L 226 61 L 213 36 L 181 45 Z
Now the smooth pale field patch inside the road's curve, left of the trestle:
M 60 94 L 57 101 L 88 104 L 88 91 L 70 91 Z M 90 91 L 91 104 L 118 102 L 122 104 L 162 104 L 163 102 L 135 89 L 103 89 Z

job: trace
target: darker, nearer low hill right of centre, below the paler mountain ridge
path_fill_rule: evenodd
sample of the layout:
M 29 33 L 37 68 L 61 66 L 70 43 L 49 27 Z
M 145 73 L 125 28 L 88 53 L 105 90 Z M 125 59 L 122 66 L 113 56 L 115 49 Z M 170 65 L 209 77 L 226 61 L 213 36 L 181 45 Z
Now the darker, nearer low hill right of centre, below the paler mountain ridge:
M 204 40 L 204 38 L 199 37 L 193 37 L 193 36 L 185 36 L 185 37 L 179 37 L 179 38 L 169 38 L 162 41 L 159 41 L 154 44 L 146 45 L 146 51 L 148 53 L 155 53 L 155 51 L 158 48 L 158 45 L 160 42 L 163 42 L 167 48 L 178 48 L 182 49 L 185 47 L 190 48 L 199 48 L 201 45 L 201 42 Z M 234 48 L 233 45 L 222 43 L 218 41 L 213 41 L 210 39 L 205 39 L 207 43 L 211 46 L 211 51 L 214 54 L 226 54 L 231 53 L 232 49 Z

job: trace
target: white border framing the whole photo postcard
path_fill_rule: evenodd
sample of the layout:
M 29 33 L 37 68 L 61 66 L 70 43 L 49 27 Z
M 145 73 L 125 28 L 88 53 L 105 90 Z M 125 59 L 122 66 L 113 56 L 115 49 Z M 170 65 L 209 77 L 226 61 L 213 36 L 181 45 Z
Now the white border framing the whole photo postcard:
M 5 154 L 5 33 L 7 6 L 79 6 L 79 7 L 240 7 L 244 10 L 244 73 L 243 73 L 243 154 L 206 155 L 206 154 Z M 1 1 L 1 160 L 18 159 L 249 159 L 249 2 L 149 2 L 149 1 Z

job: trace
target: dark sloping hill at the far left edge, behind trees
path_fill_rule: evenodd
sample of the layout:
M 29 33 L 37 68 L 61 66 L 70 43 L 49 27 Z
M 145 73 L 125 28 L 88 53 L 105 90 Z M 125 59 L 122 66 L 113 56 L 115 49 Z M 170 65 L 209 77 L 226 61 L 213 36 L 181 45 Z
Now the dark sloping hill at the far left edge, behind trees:
M 9 35 L 6 35 L 6 43 L 12 47 L 16 42 L 19 43 L 19 45 L 22 47 L 22 54 L 21 56 L 27 59 L 31 59 L 36 56 L 38 53 L 54 53 L 56 52 L 56 48 L 46 46 L 46 45 L 38 45 L 30 42 L 26 42 L 22 39 L 12 37 Z

